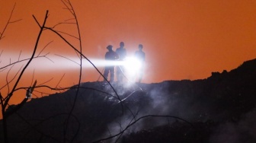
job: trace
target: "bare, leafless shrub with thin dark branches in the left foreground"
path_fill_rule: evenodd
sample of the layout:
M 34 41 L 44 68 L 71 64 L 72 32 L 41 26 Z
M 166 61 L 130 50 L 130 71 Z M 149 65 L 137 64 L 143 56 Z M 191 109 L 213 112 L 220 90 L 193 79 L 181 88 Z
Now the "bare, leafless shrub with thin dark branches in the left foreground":
M 80 34 L 80 29 L 79 29 L 79 24 L 78 24 L 78 18 L 75 14 L 75 9 L 73 8 L 72 6 L 72 3 L 69 1 L 69 0 L 61 0 L 62 4 L 64 5 L 64 9 L 69 11 L 70 14 L 72 14 L 72 17 L 65 20 L 65 21 L 62 21 L 62 22 L 59 22 L 58 24 L 55 24 L 53 26 L 47 26 L 46 22 L 47 22 L 47 18 L 49 17 L 49 11 L 46 11 L 46 14 L 45 14 L 45 17 L 43 19 L 43 23 L 40 24 L 39 21 L 37 21 L 37 17 L 33 15 L 34 17 L 34 21 L 37 23 L 38 27 L 40 27 L 40 31 L 38 32 L 38 35 L 37 35 L 37 41 L 35 42 L 34 44 L 34 51 L 32 53 L 32 55 L 30 56 L 30 58 L 28 59 L 20 59 L 20 56 L 18 58 L 18 60 L 16 62 L 9 62 L 8 65 L 4 65 L 0 68 L 0 72 L 1 71 L 5 71 L 5 70 L 8 70 L 7 72 L 7 75 L 6 75 L 6 84 L 2 87 L 0 87 L 0 90 L 2 90 L 3 88 L 7 88 L 8 89 L 8 94 L 6 96 L 3 96 L 1 93 L 0 93 L 0 99 L 1 99 L 1 106 L 2 106 L 2 116 L 3 116 L 3 130 L 4 130 L 4 139 L 5 139 L 5 142 L 8 142 L 8 126 L 7 126 L 7 119 L 8 119 L 8 116 L 11 116 L 11 114 L 13 113 L 17 113 L 16 111 L 19 110 L 23 105 L 24 103 L 27 102 L 27 100 L 30 99 L 30 96 L 31 94 L 34 94 L 34 92 L 37 92 L 37 93 L 40 93 L 40 94 L 45 94 L 41 91 L 37 91 L 37 89 L 40 89 L 42 87 L 46 87 L 47 89 L 50 89 L 50 90 L 53 90 L 53 91 L 66 91 L 70 88 L 76 88 L 76 94 L 75 94 L 75 98 L 74 100 L 72 101 L 72 108 L 71 110 L 68 111 L 68 113 L 64 113 L 65 115 L 67 115 L 67 118 L 66 118 L 66 122 L 65 122 L 65 125 L 64 125 L 64 128 L 63 128 L 63 141 L 59 141 L 58 139 L 54 138 L 53 136 L 49 136 L 49 135 L 46 135 L 48 136 L 49 138 L 52 138 L 54 141 L 57 141 L 57 142 L 67 142 L 67 141 L 74 141 L 75 140 L 75 137 L 76 135 L 78 134 L 79 132 L 79 129 L 77 129 L 77 131 L 75 132 L 75 135 L 72 137 L 72 138 L 69 138 L 69 140 L 67 139 L 67 132 L 68 132 L 68 126 L 69 126 L 69 121 L 71 118 L 75 119 L 76 122 L 78 122 L 78 125 L 80 124 L 80 121 L 76 118 L 76 116 L 73 115 L 73 111 L 74 111 L 74 108 L 75 108 L 75 104 L 77 102 L 77 97 L 78 97 L 78 93 L 80 92 L 80 90 L 84 87 L 81 87 L 81 82 L 82 82 L 82 59 L 86 59 L 88 62 L 91 63 L 91 65 L 94 66 L 94 68 L 96 69 L 96 71 L 98 71 L 98 73 L 104 78 L 104 76 L 101 74 L 101 71 L 98 70 L 98 68 L 90 61 L 90 59 L 87 58 L 87 56 L 85 56 L 83 53 L 82 53 L 82 38 L 81 38 L 81 34 Z M 15 6 L 15 5 L 14 5 Z M 11 15 L 13 14 L 13 11 L 14 11 L 14 8 L 13 10 L 11 11 Z M 20 20 L 18 20 L 20 21 Z M 14 22 L 18 22 L 18 21 L 11 21 L 11 16 L 9 17 L 8 19 L 8 22 L 6 24 L 6 26 L 4 27 L 4 29 L 2 30 L 2 32 L 0 33 L 0 40 L 2 40 L 4 38 L 4 33 L 5 33 L 5 30 L 7 29 L 8 25 L 9 24 L 12 24 Z M 59 25 L 62 25 L 62 24 L 75 24 L 76 28 L 77 28 L 77 35 L 72 35 L 70 33 L 66 33 L 65 31 L 60 31 L 60 30 L 56 30 L 56 27 L 58 27 Z M 36 55 L 36 52 L 37 52 L 37 49 L 38 49 L 38 46 L 39 46 L 39 41 L 40 41 L 40 38 L 41 38 L 41 35 L 42 33 L 45 31 L 45 30 L 49 30 L 50 32 L 52 33 L 55 33 L 62 41 L 64 41 L 68 46 L 69 48 L 73 49 L 76 53 L 76 55 L 78 56 L 78 59 L 79 59 L 79 62 L 75 62 L 75 64 L 79 65 L 79 75 L 78 75 L 78 83 L 73 86 L 73 87 L 59 87 L 59 83 L 62 81 L 62 78 L 63 76 L 65 75 L 62 75 L 62 78 L 59 80 L 59 82 L 56 84 L 56 86 L 54 87 L 51 87 L 50 85 L 47 85 L 47 82 L 43 82 L 41 84 L 37 84 L 37 80 L 34 80 L 34 77 L 31 81 L 31 84 L 30 84 L 30 87 L 18 87 L 18 84 L 21 82 L 21 77 L 24 76 L 24 71 L 27 70 L 27 67 L 30 65 L 30 63 L 34 60 L 34 59 L 37 59 L 37 58 L 44 58 L 44 59 L 48 59 L 50 61 L 52 61 L 49 57 L 48 57 L 48 53 L 44 54 L 44 55 L 41 55 L 41 53 L 43 52 L 43 50 L 46 48 L 46 46 L 48 46 L 50 43 L 48 43 L 37 55 Z M 72 44 L 71 42 L 69 42 L 69 40 L 67 40 L 65 38 L 65 36 L 68 36 L 68 37 L 72 37 L 72 38 L 75 38 L 75 40 L 78 40 L 78 47 L 75 47 L 74 44 Z M 2 55 L 2 52 L 0 53 L 0 56 Z M 21 55 L 21 53 L 20 53 Z M 66 58 L 65 56 L 62 56 L 63 58 Z M 67 59 L 67 58 L 66 58 Z M 21 62 L 27 62 L 24 66 L 22 66 L 17 72 L 16 74 L 10 79 L 8 79 L 8 73 L 9 71 L 12 70 L 12 67 L 18 63 L 21 63 Z M 34 75 L 32 75 L 34 76 Z M 106 79 L 106 78 L 105 78 Z M 51 79 L 50 79 L 51 80 Z M 49 80 L 49 81 L 50 81 Z M 107 79 L 106 79 L 107 81 Z M 108 81 L 107 81 L 108 82 Z M 14 83 L 13 86 L 11 86 L 10 83 Z M 34 84 L 33 84 L 34 83 Z M 32 85 L 33 84 L 33 85 Z M 88 87 L 88 89 L 91 89 L 91 90 L 94 90 L 94 91 L 100 91 L 102 93 L 105 93 L 105 94 L 109 94 L 111 97 L 114 97 L 116 98 L 119 102 L 118 104 L 120 104 L 121 106 L 121 110 L 122 110 L 122 114 L 120 116 L 123 116 L 123 112 L 124 112 L 124 109 L 128 110 L 129 113 L 130 113 L 130 116 L 132 116 L 132 118 L 130 119 L 130 122 L 128 123 L 128 125 L 124 126 L 123 127 L 123 122 L 119 122 L 119 125 L 120 125 L 120 132 L 117 133 L 116 135 L 110 135 L 109 137 L 107 138 L 102 138 L 102 139 L 99 139 L 98 141 L 95 141 L 95 142 L 100 142 L 100 141 L 106 141 L 106 140 L 109 140 L 111 138 L 116 138 L 117 137 L 117 140 L 123 135 L 123 132 L 125 132 L 127 129 L 130 128 L 130 126 L 133 126 L 136 122 L 138 122 L 139 120 L 141 119 L 145 119 L 145 118 L 149 118 L 149 117 L 166 117 L 166 118 L 175 118 L 175 119 L 180 119 L 178 117 L 175 117 L 175 116 L 156 116 L 156 115 L 148 115 L 148 116 L 141 116 L 141 117 L 137 117 L 138 116 L 138 112 L 137 113 L 133 113 L 132 110 L 130 110 L 130 107 L 129 106 L 124 106 L 123 105 L 123 100 L 120 99 L 120 96 L 117 94 L 117 91 L 114 89 L 114 87 L 112 86 L 112 84 L 110 84 L 108 82 L 108 84 L 110 85 L 110 87 L 113 89 L 114 91 L 114 95 L 112 94 L 109 94 L 109 93 L 106 93 L 105 91 L 101 91 L 99 89 L 93 89 L 93 88 L 90 88 Z M 26 90 L 27 91 L 27 94 L 26 94 L 26 97 L 24 97 L 24 100 L 21 101 L 21 103 L 19 103 L 17 106 L 10 106 L 9 105 L 9 101 L 11 100 L 11 98 L 13 98 L 13 95 L 15 92 L 19 91 L 19 90 Z M 136 91 L 132 92 L 135 93 Z M 9 106 L 9 108 L 8 108 Z M 8 108 L 8 110 L 7 110 Z M 18 113 L 17 113 L 18 114 Z M 58 114 L 58 115 L 54 115 L 54 116 L 59 116 L 59 115 L 62 115 L 62 114 Z M 24 119 L 21 115 L 18 114 L 18 116 L 21 117 L 21 119 Z M 53 116 L 49 117 L 48 119 L 52 118 Z M 47 120 L 47 119 L 45 119 Z M 45 120 L 43 120 L 42 122 L 44 122 Z M 184 120 L 184 119 L 181 119 L 181 120 Z M 27 122 L 27 120 L 24 119 L 25 122 Z M 185 120 L 184 120 L 185 121 Z M 187 121 L 185 121 L 187 122 Z M 30 122 L 27 122 L 28 125 L 30 125 L 32 128 L 36 129 L 35 126 L 37 125 L 32 125 L 30 124 Z M 39 123 L 40 124 L 40 123 Z M 37 130 L 37 129 L 36 129 Z M 37 132 L 40 132 L 39 130 L 37 130 Z M 43 132 L 40 132 L 42 135 L 45 135 Z

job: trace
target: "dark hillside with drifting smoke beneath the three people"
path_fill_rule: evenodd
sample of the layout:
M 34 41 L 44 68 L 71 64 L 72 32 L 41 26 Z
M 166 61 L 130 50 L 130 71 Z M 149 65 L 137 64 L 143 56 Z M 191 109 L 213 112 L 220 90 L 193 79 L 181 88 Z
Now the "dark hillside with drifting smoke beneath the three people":
M 120 138 L 101 142 L 252 143 L 256 142 L 255 85 L 256 59 L 202 80 L 114 83 L 120 99 L 127 97 L 121 103 L 109 84 L 87 82 L 78 96 L 74 86 L 27 102 L 8 118 L 8 139 L 92 142 L 128 126 Z

